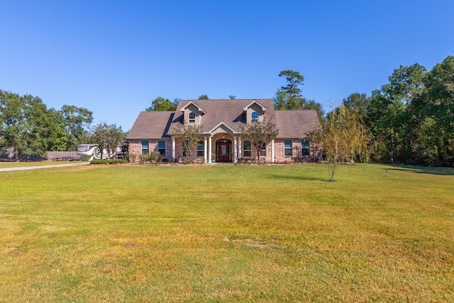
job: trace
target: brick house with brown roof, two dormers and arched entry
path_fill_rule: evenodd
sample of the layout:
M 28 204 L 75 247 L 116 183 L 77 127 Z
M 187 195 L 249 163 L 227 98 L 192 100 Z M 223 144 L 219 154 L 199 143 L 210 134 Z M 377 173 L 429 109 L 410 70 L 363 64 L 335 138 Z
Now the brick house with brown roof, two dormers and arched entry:
M 238 162 L 257 154 L 248 138 L 242 136 L 246 123 L 270 121 L 278 136 L 260 153 L 266 162 L 292 162 L 311 157 L 307 133 L 319 125 L 315 110 L 275 110 L 272 99 L 181 100 L 176 111 L 142 111 L 127 139 L 130 160 L 141 154 L 159 152 L 164 159 L 182 158 L 182 142 L 175 139 L 175 129 L 184 121 L 201 126 L 200 141 L 191 156 L 199 162 Z

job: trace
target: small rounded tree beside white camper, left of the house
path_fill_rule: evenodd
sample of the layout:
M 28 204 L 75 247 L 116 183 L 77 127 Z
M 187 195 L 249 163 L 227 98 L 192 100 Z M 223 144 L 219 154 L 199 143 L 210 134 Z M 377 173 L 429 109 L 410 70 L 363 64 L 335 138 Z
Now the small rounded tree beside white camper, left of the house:
M 107 150 L 109 158 L 114 158 L 116 148 L 121 145 L 126 139 L 126 134 L 123 133 L 121 126 L 116 124 L 108 125 L 107 123 L 98 123 L 92 130 L 90 141 L 97 145 L 98 150 Z M 101 153 L 101 158 L 102 158 Z

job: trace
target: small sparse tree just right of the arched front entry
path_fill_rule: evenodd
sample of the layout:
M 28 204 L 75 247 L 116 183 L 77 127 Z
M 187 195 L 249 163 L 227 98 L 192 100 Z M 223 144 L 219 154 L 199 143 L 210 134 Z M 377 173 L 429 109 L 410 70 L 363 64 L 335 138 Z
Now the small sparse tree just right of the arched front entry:
M 241 132 L 254 145 L 257 151 L 257 162 L 260 162 L 260 152 L 277 137 L 278 133 L 275 123 L 270 121 L 248 123 L 241 128 Z

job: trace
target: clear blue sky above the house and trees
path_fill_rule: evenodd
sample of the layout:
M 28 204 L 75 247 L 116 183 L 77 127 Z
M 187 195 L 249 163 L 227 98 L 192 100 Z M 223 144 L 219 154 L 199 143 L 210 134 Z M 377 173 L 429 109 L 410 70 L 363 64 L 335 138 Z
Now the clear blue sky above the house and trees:
M 281 70 L 329 109 L 399 65 L 454 55 L 454 1 L 0 0 L 0 89 L 128 131 L 156 97 L 272 98 Z

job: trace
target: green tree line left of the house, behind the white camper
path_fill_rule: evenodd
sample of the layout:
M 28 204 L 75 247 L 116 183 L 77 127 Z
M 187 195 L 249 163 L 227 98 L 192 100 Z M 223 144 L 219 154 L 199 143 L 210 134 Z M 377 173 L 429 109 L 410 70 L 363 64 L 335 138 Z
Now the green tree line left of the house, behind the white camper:
M 46 151 L 75 150 L 81 143 L 110 148 L 112 140 L 121 143 L 126 138 L 115 124 L 92 126 L 92 122 L 88 109 L 74 105 L 48 109 L 39 97 L 0 90 L 0 150 L 12 149 L 17 160 L 43 156 Z

